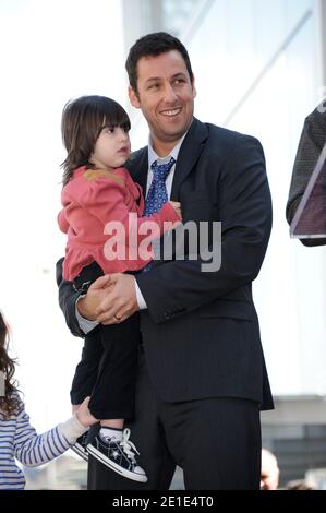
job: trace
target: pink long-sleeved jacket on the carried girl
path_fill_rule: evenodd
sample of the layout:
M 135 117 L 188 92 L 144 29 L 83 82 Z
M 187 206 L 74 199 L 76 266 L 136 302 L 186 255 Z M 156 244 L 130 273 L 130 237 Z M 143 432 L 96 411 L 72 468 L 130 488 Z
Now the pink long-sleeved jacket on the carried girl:
M 68 235 L 63 278 L 69 281 L 94 261 L 105 274 L 144 267 L 153 258 L 150 241 L 180 222 L 169 202 L 150 217 L 142 217 L 142 188 L 124 168 L 110 172 L 80 167 L 63 187 L 61 202 L 58 224 Z

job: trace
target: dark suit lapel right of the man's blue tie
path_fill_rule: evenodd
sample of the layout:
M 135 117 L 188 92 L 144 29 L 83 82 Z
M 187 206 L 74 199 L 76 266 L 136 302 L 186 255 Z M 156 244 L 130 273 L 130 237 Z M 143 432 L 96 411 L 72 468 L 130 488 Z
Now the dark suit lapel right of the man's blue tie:
M 176 171 L 172 182 L 171 198 L 179 196 L 179 188 L 189 174 L 193 170 L 208 136 L 207 128 L 204 123 L 194 118 L 191 128 L 181 145 Z

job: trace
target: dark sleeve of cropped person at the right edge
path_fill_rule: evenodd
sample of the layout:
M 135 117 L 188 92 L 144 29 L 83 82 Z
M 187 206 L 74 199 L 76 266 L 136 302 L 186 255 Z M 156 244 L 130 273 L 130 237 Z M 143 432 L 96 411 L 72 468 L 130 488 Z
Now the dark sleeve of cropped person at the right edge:
M 291 224 L 299 203 L 303 196 L 309 179 L 314 170 L 323 150 L 326 131 L 322 124 L 322 116 L 317 110 L 310 115 L 303 126 L 294 160 L 289 199 L 287 203 L 287 220 Z M 325 117 L 325 116 L 324 116 Z M 324 121 L 325 122 L 325 121 Z M 300 239 L 304 246 L 324 246 L 326 239 Z

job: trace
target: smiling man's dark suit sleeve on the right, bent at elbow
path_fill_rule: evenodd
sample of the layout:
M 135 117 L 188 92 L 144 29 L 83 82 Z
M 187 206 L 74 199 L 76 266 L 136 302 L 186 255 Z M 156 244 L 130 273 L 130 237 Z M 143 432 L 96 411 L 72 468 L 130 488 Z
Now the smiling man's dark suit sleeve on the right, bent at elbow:
M 209 158 L 214 169 L 215 158 Z M 233 144 L 218 190 L 221 265 L 203 272 L 203 259 L 174 260 L 136 276 L 155 322 L 222 298 L 257 276 L 271 229 L 271 201 L 261 143 L 242 136 Z M 210 248 L 213 250 L 213 248 Z

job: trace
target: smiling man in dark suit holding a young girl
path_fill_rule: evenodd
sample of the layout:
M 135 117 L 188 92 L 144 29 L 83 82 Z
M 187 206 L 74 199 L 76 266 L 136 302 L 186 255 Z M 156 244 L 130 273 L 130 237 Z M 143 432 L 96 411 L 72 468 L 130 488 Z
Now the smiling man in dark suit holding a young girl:
M 271 226 L 263 150 L 251 136 L 193 117 L 194 76 L 177 38 L 144 36 L 126 70 L 131 104 L 150 132 L 130 171 L 148 191 L 153 162 L 174 158 L 168 195 L 181 202 L 183 223 L 221 222 L 221 266 L 205 272 L 200 255 L 161 260 L 136 276 L 99 278 L 81 299 L 61 282 L 59 263 L 60 305 L 74 334 L 96 322 L 119 324 L 141 309 L 136 414 L 129 427 L 148 482 L 128 481 L 89 458 L 88 487 L 167 490 L 178 464 L 186 489 L 258 489 L 259 409 L 273 408 L 252 300 Z

